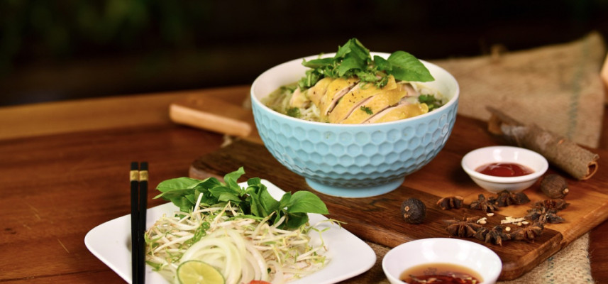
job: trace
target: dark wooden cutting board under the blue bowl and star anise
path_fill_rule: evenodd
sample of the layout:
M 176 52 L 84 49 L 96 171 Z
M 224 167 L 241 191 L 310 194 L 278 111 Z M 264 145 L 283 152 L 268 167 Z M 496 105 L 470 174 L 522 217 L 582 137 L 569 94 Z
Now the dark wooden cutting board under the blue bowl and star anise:
M 465 197 L 465 204 L 476 200 L 480 194 L 492 195 L 475 185 L 460 168 L 460 160 L 465 153 L 483 146 L 504 144 L 500 138 L 487 133 L 486 127 L 487 124 L 483 121 L 458 116 L 448 143 L 437 157 L 418 172 L 407 176 L 397 190 L 377 197 L 353 199 L 315 192 L 304 178 L 284 168 L 255 139 L 237 140 L 220 151 L 197 158 L 190 167 L 189 175 L 200 179 L 209 176 L 221 178 L 243 166 L 246 172 L 243 180 L 260 177 L 270 180 L 285 191 L 311 190 L 326 202 L 330 212 L 328 217 L 346 222 L 343 226 L 362 239 L 394 247 L 414 239 L 448 237 L 443 224 L 446 219 L 487 217 L 478 210 L 442 210 L 436 205 L 441 197 L 451 195 Z M 600 157 L 608 155 L 607 151 L 593 151 L 599 153 Z M 550 168 L 548 173 L 558 173 L 568 178 L 568 175 L 555 168 Z M 503 262 L 500 280 L 518 278 L 608 219 L 608 175 L 601 164 L 590 180 L 568 178 L 568 183 L 570 194 L 565 199 L 570 206 L 560 212 L 565 222 L 546 225 L 540 238 L 533 243 L 506 241 L 502 246 L 497 246 L 468 239 L 488 246 L 500 256 Z M 538 187 L 537 182 L 525 191 L 532 202 L 546 199 Z M 408 197 L 419 198 L 426 204 L 427 216 L 423 224 L 407 224 L 403 221 L 399 209 L 402 201 Z M 531 203 L 502 207 L 497 214 L 487 217 L 488 224 L 485 226 L 499 224 L 507 216 L 523 217 Z M 517 229 L 516 225 L 512 227 Z

